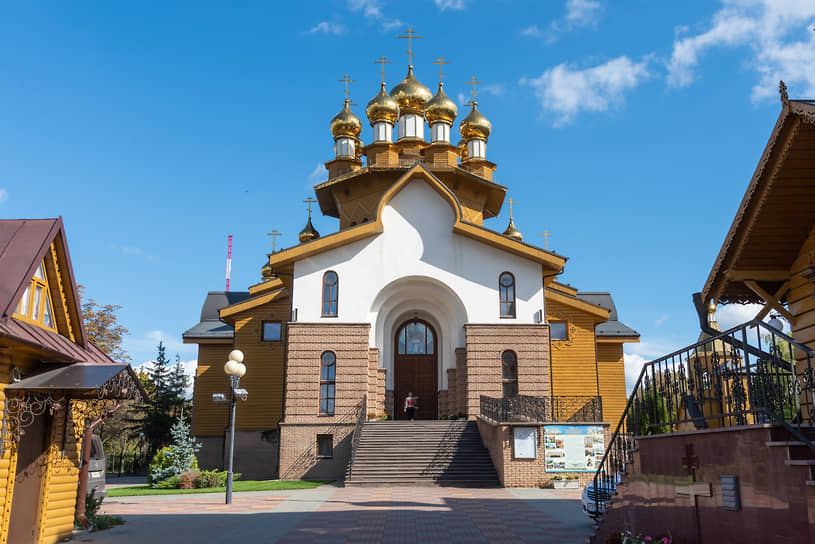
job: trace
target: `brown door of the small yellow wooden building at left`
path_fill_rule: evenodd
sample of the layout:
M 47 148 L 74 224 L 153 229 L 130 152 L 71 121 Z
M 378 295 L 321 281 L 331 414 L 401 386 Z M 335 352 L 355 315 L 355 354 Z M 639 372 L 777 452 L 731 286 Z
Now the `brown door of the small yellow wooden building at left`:
M 17 445 L 17 471 L 11 497 L 8 544 L 34 542 L 38 534 L 42 480 L 46 470 L 46 436 L 50 416 L 34 418 Z

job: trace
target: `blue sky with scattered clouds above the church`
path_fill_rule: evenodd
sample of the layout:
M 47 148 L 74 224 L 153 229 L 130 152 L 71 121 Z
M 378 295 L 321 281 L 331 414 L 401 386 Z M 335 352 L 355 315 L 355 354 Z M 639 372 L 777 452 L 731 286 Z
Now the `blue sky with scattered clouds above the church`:
M 552 233 L 563 281 L 612 292 L 642 334 L 631 368 L 694 341 L 691 294 L 778 116 L 778 80 L 815 97 L 811 0 L 7 4 L 0 216 L 62 215 L 77 280 L 123 306 L 133 362 L 159 339 L 192 361 L 181 333 L 223 289 L 227 235 L 245 289 L 266 233 L 295 243 L 301 201 L 326 179 L 337 79 L 356 80 L 363 117 L 374 59 L 393 61 L 389 88 L 404 77 L 408 26 L 425 85 L 439 56 L 450 96 L 484 82 L 516 225 L 532 243 Z M 505 206 L 486 226 L 507 220 Z

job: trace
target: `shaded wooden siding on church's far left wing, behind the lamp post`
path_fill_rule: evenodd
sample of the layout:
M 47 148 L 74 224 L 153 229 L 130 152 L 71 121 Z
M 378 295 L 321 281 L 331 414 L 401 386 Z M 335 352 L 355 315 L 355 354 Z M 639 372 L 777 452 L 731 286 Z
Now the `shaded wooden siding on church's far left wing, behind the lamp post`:
M 220 436 L 228 423 L 227 406 L 212 402 L 213 393 L 227 392 L 224 363 L 232 351 L 232 344 L 199 344 L 198 372 L 195 378 L 195 396 L 192 432 L 195 436 Z M 248 360 L 247 363 L 251 364 Z M 247 370 L 247 375 L 252 372 Z M 241 411 L 243 415 L 243 411 Z

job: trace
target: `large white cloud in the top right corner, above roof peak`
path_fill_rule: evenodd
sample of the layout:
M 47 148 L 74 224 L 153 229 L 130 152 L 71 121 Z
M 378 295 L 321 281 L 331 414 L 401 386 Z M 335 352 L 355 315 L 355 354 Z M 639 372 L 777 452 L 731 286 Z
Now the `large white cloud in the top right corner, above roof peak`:
M 753 101 L 777 96 L 783 79 L 798 96 L 815 94 L 815 2 L 812 0 L 723 0 L 704 32 L 677 29 L 668 62 L 668 84 L 687 87 L 702 56 L 720 47 L 750 50 L 747 68 L 757 72 Z

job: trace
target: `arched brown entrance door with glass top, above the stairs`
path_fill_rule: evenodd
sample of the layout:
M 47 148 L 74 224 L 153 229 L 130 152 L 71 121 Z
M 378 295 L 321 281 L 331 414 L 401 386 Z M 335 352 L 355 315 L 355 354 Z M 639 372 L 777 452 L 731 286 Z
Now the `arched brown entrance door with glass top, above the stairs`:
M 416 419 L 436 419 L 438 371 L 436 331 L 427 321 L 411 319 L 402 323 L 394 339 L 394 416 L 404 419 L 405 397 L 418 397 Z

